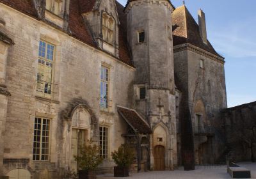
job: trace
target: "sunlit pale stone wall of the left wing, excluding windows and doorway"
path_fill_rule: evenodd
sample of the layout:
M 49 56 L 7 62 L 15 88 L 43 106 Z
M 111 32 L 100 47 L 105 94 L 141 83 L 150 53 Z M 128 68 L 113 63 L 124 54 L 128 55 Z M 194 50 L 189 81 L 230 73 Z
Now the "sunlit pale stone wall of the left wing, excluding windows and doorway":
M 63 178 L 68 171 L 69 155 L 65 153 L 68 122 L 61 117 L 61 111 L 77 98 L 88 103 L 99 125 L 109 127 L 109 159 L 100 166 L 109 171 L 113 167 L 110 153 L 124 142 L 121 134 L 126 129 L 116 105 L 131 107 L 131 97 L 127 94 L 133 94 L 134 68 L 3 4 L 0 17 L 6 22 L 1 30 L 15 42 L 10 47 L 6 67 L 6 86 L 12 96 L 8 98 L 4 133 L 4 174 L 24 166 L 34 178 Z M 54 93 L 50 99 L 36 93 L 40 40 L 56 46 Z M 99 107 L 101 65 L 109 67 L 109 111 L 101 111 Z M 33 162 L 33 128 L 38 116 L 51 120 L 51 152 L 47 162 Z

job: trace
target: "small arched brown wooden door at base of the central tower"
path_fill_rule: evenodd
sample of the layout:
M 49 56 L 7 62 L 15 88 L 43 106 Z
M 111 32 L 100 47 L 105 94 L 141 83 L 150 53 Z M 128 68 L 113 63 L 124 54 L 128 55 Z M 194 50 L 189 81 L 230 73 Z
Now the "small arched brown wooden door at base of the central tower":
M 154 151 L 154 170 L 163 171 L 165 168 L 164 162 L 164 146 L 156 146 Z

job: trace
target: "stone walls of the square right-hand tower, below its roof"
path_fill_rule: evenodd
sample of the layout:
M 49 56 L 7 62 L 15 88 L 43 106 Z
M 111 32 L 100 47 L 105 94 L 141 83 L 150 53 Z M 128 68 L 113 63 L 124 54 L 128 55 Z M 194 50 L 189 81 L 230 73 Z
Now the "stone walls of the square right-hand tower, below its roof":
M 220 110 L 227 107 L 224 63 L 191 44 L 176 46 L 174 52 L 175 82 L 182 91 L 180 126 L 186 133 L 193 130 L 184 137 L 183 150 L 188 149 L 188 143 L 193 140 L 195 164 L 214 163 L 223 152 L 225 142 L 225 135 L 218 131 Z M 200 60 L 204 61 L 203 68 Z M 196 121 L 196 114 L 201 116 L 200 123 Z

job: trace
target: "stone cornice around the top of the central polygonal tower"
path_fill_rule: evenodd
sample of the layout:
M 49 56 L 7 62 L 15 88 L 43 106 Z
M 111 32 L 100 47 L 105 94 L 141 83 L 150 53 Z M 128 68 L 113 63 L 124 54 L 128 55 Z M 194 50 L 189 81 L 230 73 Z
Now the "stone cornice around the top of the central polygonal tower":
M 127 4 L 127 6 L 125 7 L 125 13 L 128 13 L 132 6 L 139 6 L 141 4 L 157 4 L 157 5 L 164 5 L 168 8 L 168 10 L 170 10 L 170 12 L 173 12 L 174 7 L 172 6 L 172 4 L 170 4 L 170 2 L 166 1 L 166 0 L 137 0 L 137 1 L 131 1 Z

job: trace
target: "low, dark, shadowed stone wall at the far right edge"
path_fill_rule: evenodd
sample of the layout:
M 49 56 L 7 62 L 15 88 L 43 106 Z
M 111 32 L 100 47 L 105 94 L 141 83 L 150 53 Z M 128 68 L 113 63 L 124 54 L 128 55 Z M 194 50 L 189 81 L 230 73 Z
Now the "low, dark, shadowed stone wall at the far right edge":
M 256 102 L 224 109 L 222 121 L 227 140 L 227 159 L 234 162 L 255 162 Z

